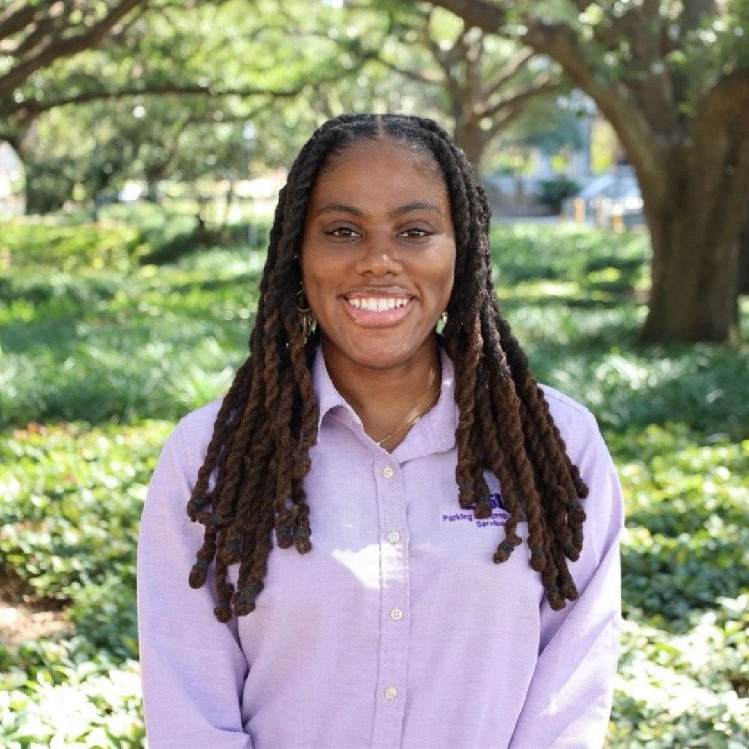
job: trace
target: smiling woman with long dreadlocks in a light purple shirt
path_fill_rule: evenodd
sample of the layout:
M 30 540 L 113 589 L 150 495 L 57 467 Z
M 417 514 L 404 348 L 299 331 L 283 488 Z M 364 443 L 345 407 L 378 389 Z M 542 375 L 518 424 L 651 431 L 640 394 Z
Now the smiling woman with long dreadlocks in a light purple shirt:
M 148 492 L 151 749 L 602 745 L 619 485 L 528 371 L 489 216 L 431 121 L 345 115 L 300 152 L 250 356 Z

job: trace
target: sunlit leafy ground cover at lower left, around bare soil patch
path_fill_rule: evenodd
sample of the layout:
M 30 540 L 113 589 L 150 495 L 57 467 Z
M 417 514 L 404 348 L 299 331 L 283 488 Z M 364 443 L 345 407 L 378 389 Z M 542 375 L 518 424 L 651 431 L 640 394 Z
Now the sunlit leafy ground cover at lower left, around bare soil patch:
M 32 425 L 1 440 L 0 570 L 28 600 L 64 604 L 74 633 L 0 647 L 4 747 L 142 748 L 136 534 L 169 428 Z

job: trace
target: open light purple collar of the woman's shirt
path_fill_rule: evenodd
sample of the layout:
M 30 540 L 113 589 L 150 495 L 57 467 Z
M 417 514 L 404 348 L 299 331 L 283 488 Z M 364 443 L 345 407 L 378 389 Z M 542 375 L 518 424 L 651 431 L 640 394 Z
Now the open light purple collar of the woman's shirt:
M 423 452 L 446 452 L 455 446 L 455 428 L 458 425 L 458 404 L 455 402 L 455 367 L 443 348 L 440 347 L 442 382 L 440 399 L 422 419 L 410 429 L 406 438 L 393 450 L 399 461 L 417 457 Z M 351 416 L 354 423 L 360 424 L 359 416 L 336 390 L 325 366 L 322 347 L 318 346 L 312 364 L 312 386 L 318 398 L 318 430 L 323 419 L 333 410 L 342 408 Z

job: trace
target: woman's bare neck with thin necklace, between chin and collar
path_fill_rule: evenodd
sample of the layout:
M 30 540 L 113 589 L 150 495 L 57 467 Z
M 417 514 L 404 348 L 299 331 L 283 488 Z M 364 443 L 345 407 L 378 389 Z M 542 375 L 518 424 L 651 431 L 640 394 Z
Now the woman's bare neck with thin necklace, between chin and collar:
M 362 420 L 364 431 L 385 449 L 401 443 L 419 413 L 434 406 L 442 380 L 436 338 L 418 357 L 392 369 L 367 369 L 328 355 L 325 364 L 336 389 Z M 410 419 L 413 423 L 409 424 Z

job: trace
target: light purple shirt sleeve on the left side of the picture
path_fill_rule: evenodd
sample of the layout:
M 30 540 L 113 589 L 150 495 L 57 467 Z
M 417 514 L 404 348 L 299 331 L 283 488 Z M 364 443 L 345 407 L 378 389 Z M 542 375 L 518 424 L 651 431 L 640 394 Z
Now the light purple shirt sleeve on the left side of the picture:
M 249 749 L 241 695 L 248 672 L 236 619 L 213 616 L 213 578 L 187 583 L 203 526 L 185 506 L 201 446 L 184 422 L 164 446 L 148 488 L 138 544 L 138 625 L 151 749 Z M 209 433 L 210 434 L 210 433 Z M 207 441 L 207 440 L 206 440 Z

